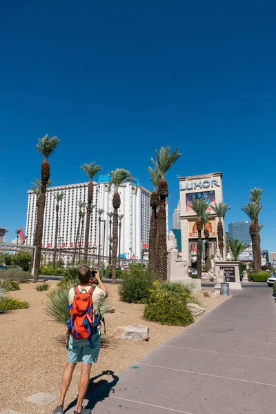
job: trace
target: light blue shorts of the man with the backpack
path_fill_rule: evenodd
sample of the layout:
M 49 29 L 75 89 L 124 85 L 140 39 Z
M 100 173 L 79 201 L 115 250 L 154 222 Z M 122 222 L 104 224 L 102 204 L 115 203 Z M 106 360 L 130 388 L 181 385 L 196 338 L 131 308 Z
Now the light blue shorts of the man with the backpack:
M 68 347 L 68 362 L 70 364 L 95 364 L 99 356 L 101 347 L 101 329 L 95 335 L 92 335 L 92 346 L 88 339 L 75 339 L 70 335 Z

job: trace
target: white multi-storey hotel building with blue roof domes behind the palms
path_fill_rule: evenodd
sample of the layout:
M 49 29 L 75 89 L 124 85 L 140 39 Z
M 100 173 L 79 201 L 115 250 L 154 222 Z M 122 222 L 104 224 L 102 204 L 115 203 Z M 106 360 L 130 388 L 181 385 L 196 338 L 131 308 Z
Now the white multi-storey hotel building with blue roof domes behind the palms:
M 44 248 L 53 248 L 55 245 L 55 221 L 56 202 L 55 193 L 63 191 L 65 197 L 59 204 L 59 243 L 61 248 L 72 248 L 75 246 L 77 224 L 79 220 L 78 201 L 86 201 L 88 183 L 70 184 L 67 186 L 49 187 L 46 193 L 46 206 L 44 213 L 44 229 L 42 244 Z M 100 175 L 94 182 L 93 201 L 95 208 L 92 209 L 90 221 L 90 253 L 97 254 L 99 246 L 99 215 L 98 209 L 102 208 L 104 213 L 101 220 L 106 220 L 104 255 L 108 256 L 109 242 L 109 217 L 107 213 L 113 211 L 112 197 L 114 186 L 110 184 L 110 175 Z M 129 181 L 119 187 L 121 207 L 119 214 L 124 214 L 121 221 L 121 255 L 126 258 L 141 259 L 142 244 L 148 244 L 150 231 L 150 191 L 143 188 L 139 182 L 136 184 Z M 28 190 L 28 211 L 26 221 L 26 236 L 28 244 L 34 242 L 34 230 L 37 219 L 36 212 L 37 197 L 32 190 Z M 84 226 L 85 227 L 85 226 Z M 103 230 L 101 223 L 101 255 L 103 249 Z M 84 233 L 81 238 L 81 246 L 84 245 Z

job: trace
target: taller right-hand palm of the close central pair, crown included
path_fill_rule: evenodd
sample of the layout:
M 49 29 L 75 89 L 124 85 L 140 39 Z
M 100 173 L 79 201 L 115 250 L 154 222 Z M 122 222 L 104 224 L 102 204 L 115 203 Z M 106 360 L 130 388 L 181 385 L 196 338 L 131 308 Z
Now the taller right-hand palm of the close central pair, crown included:
M 155 168 L 158 168 L 161 176 L 158 186 L 158 195 L 160 197 L 160 208 L 158 215 L 158 278 L 160 281 L 167 279 L 167 225 L 166 225 L 166 198 L 168 197 L 168 183 L 165 179 L 166 172 L 175 164 L 175 161 L 181 157 L 181 153 L 174 150 L 170 154 L 170 146 L 161 147 L 158 152 L 155 150 L 156 161 L 152 159 Z

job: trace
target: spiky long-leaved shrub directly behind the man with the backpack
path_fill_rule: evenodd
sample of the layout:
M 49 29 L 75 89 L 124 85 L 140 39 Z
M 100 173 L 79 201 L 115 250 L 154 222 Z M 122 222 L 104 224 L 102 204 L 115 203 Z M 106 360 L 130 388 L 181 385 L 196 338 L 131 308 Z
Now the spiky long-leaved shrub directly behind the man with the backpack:
M 70 316 L 69 299 L 68 299 L 69 288 L 56 288 L 52 289 L 48 293 L 48 302 L 46 303 L 46 313 L 60 324 L 67 326 L 67 321 Z M 111 309 L 110 303 L 104 301 L 99 306 L 99 311 L 103 317 L 109 313 Z

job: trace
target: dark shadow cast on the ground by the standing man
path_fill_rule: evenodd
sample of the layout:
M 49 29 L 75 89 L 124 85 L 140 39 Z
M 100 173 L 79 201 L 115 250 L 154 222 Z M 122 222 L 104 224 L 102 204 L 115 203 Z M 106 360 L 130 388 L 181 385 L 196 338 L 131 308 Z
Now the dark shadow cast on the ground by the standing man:
M 107 380 L 99 380 L 95 382 L 95 380 L 102 377 L 103 375 L 111 375 L 112 381 L 108 382 Z M 86 408 L 90 408 L 92 410 L 92 408 L 94 408 L 98 402 L 105 400 L 109 396 L 110 391 L 112 391 L 112 388 L 117 384 L 118 381 L 119 377 L 115 375 L 113 371 L 103 371 L 101 374 L 90 378 L 88 390 L 86 392 L 85 397 L 86 400 L 88 400 Z M 67 413 L 67 411 L 69 411 L 70 408 L 74 407 L 76 404 L 77 398 L 75 398 L 74 401 L 70 402 L 70 404 L 64 411 L 64 414 Z

